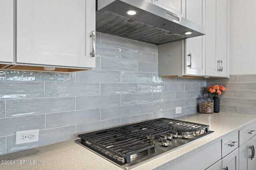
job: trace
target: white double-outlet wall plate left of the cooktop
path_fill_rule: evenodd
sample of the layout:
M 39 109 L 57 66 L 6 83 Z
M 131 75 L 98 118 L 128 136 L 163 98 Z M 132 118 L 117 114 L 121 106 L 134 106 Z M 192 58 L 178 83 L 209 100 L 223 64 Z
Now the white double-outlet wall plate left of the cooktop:
M 33 129 L 28 131 L 16 131 L 16 142 L 15 145 L 23 143 L 38 142 L 39 129 Z

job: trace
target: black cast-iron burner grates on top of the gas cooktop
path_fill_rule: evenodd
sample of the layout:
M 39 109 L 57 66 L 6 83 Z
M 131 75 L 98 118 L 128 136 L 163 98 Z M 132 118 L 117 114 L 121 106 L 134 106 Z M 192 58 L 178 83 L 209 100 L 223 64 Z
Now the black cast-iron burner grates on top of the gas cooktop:
M 111 160 L 130 163 L 131 155 L 154 148 L 154 137 L 169 131 L 209 131 L 208 125 L 160 118 L 78 135 L 82 144 Z

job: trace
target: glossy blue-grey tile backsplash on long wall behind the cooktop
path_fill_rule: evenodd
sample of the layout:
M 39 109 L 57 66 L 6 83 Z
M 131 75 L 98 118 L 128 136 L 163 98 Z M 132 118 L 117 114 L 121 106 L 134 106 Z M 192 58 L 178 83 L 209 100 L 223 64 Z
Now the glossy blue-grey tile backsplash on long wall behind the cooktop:
M 96 42 L 95 70 L 0 71 L 0 154 L 197 112 L 206 79 L 158 77 L 156 45 L 103 33 Z M 16 131 L 29 129 L 40 129 L 39 142 L 15 145 Z

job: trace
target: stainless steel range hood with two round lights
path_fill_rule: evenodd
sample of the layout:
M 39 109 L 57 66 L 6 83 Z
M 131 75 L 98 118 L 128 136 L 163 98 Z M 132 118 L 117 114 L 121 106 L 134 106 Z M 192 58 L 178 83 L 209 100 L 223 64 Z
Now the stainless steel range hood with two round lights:
M 201 25 L 146 0 L 97 0 L 96 31 L 156 45 L 205 35 Z

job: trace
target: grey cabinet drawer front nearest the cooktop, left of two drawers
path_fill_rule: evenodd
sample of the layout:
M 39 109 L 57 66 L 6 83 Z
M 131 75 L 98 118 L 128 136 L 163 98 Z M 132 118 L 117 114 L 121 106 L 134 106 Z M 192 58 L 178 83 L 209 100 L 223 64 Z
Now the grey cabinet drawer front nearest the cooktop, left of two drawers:
M 222 139 L 222 158 L 238 148 L 238 132 Z

